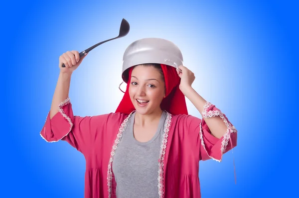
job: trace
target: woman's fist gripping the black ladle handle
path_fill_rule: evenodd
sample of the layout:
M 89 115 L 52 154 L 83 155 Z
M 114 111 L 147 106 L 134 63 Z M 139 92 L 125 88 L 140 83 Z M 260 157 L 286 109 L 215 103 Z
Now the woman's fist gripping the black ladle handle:
M 59 56 L 60 72 L 72 73 L 78 68 L 78 66 L 81 64 L 82 60 L 86 57 L 86 55 L 80 58 L 79 52 L 75 50 L 63 53 L 61 56 Z M 65 67 L 62 67 L 63 64 L 65 65 Z

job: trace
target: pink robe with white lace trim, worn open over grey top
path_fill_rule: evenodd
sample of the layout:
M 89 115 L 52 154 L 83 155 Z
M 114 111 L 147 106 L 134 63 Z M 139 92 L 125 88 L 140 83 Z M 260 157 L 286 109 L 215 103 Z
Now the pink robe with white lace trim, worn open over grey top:
M 84 155 L 84 197 L 116 198 L 112 162 L 132 113 L 74 116 L 69 98 L 59 105 L 59 112 L 52 119 L 49 113 L 40 135 L 47 142 L 67 141 Z M 203 119 L 167 113 L 157 162 L 160 198 L 200 198 L 199 161 L 214 159 L 220 162 L 222 155 L 237 144 L 235 127 L 225 114 L 207 102 L 203 117 L 218 115 L 227 126 L 220 139 L 211 135 Z

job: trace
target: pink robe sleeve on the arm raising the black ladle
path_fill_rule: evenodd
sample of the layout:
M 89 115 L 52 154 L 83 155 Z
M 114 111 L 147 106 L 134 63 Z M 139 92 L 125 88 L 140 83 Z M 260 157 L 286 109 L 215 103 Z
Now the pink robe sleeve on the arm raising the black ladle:
M 72 147 L 85 154 L 96 140 L 97 131 L 108 117 L 108 114 L 99 116 L 74 116 L 70 99 L 59 104 L 59 112 L 50 119 L 48 112 L 40 136 L 46 142 L 68 142 Z M 99 135 L 100 136 L 100 135 Z

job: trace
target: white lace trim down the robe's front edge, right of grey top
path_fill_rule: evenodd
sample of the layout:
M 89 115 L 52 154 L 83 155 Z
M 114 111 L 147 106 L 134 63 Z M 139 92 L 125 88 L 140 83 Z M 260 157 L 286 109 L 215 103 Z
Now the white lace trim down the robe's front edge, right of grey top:
M 163 139 L 160 148 L 160 156 L 159 156 L 159 169 L 158 169 L 158 193 L 160 198 L 164 197 L 164 185 L 163 185 L 163 177 L 164 177 L 164 156 L 166 151 L 167 139 L 168 139 L 168 132 L 170 128 L 171 122 L 171 114 L 167 113 L 167 117 L 164 123 L 164 130 L 163 130 Z

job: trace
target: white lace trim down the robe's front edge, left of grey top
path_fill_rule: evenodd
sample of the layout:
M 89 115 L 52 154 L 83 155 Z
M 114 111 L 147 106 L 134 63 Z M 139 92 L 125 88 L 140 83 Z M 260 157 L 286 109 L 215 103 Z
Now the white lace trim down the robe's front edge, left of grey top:
M 134 112 L 134 111 L 133 111 Z M 111 171 L 111 164 L 113 162 L 113 158 L 115 155 L 115 151 L 117 150 L 117 147 L 123 137 L 123 133 L 126 129 L 126 126 L 128 124 L 128 121 L 132 115 L 131 112 L 129 114 L 129 116 L 123 121 L 123 123 L 121 124 L 121 127 L 119 128 L 119 132 L 117 134 L 117 137 L 114 141 L 113 147 L 112 147 L 112 151 L 111 151 L 111 155 L 110 155 L 110 160 L 109 160 L 109 164 L 108 164 L 108 172 L 107 172 L 107 185 L 108 185 L 108 197 L 111 198 L 111 185 L 112 185 L 112 171 Z

